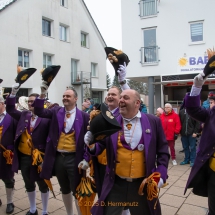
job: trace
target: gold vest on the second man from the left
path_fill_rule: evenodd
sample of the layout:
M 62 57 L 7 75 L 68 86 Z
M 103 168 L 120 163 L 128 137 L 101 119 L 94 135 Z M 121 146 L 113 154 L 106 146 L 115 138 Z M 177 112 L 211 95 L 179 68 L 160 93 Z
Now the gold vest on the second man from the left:
M 21 134 L 18 150 L 25 155 L 31 155 L 33 149 L 32 138 L 27 129 Z

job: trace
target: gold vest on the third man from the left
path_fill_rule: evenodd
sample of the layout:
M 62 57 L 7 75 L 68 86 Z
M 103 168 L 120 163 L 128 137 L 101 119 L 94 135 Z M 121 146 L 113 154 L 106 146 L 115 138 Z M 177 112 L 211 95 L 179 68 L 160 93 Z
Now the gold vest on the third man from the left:
M 65 150 L 68 152 L 75 152 L 76 151 L 76 144 L 75 144 L 75 131 L 71 134 L 65 134 L 61 132 L 60 139 L 57 145 L 58 150 Z

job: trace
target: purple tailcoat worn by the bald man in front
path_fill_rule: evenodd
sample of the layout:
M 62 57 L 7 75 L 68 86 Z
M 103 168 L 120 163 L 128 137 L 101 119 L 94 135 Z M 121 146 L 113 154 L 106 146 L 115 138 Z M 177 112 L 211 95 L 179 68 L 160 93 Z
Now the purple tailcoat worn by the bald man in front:
M 119 116 L 117 120 L 121 123 L 122 117 Z M 161 173 L 161 177 L 165 182 L 167 179 L 169 152 L 161 121 L 155 116 L 141 113 L 141 125 L 145 146 L 146 177 L 157 171 Z M 150 129 L 150 132 L 146 132 L 147 129 Z M 118 134 L 119 133 L 117 132 L 110 137 L 107 137 L 104 143 L 96 143 L 95 153 L 92 154 L 97 156 L 103 151 L 104 147 L 107 149 L 106 174 L 102 186 L 101 196 L 98 200 L 99 206 L 94 206 L 91 211 L 93 215 L 103 214 L 103 207 L 100 206 L 101 202 L 105 201 L 114 185 Z M 159 202 L 157 203 L 156 210 L 154 210 L 155 201 L 155 199 L 148 201 L 151 214 L 160 215 L 161 211 Z

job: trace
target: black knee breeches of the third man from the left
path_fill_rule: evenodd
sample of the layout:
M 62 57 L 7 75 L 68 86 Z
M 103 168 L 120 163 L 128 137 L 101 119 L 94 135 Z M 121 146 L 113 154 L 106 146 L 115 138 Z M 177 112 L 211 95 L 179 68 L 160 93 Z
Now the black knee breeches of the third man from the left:
M 75 153 L 57 152 L 54 172 L 62 194 L 75 193 Z

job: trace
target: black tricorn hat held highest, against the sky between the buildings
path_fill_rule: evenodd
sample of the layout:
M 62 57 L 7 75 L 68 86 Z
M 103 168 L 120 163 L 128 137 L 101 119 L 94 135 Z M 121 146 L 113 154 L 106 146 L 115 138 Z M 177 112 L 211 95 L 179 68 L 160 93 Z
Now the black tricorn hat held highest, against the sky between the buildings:
M 119 69 L 119 65 L 124 65 L 124 62 L 126 63 L 126 66 L 130 62 L 128 56 L 123 53 L 121 50 L 117 50 L 112 47 L 105 47 L 105 52 L 107 55 L 107 58 L 113 65 L 115 69 L 115 74 L 118 75 L 117 70 Z

